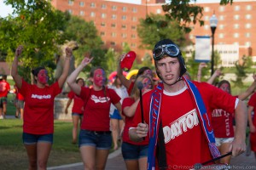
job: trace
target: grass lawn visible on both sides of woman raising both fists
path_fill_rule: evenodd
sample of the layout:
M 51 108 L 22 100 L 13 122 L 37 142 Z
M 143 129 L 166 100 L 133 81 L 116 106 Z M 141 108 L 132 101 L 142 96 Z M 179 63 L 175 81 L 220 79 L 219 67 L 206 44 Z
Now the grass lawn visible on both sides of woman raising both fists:
M 71 144 L 72 122 L 55 121 L 54 144 L 48 167 L 81 161 L 79 147 Z M 0 169 L 27 169 L 26 150 L 22 144 L 22 121 L 20 119 L 0 120 Z

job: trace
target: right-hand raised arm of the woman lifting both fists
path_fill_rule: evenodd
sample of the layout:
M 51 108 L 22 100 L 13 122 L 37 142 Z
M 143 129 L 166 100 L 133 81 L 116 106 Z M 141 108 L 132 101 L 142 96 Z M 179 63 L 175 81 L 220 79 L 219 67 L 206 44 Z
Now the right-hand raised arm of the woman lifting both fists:
M 68 76 L 68 71 L 70 67 L 70 61 L 73 57 L 72 49 L 71 48 L 66 48 L 66 58 L 63 66 L 63 70 L 61 73 L 61 77 L 58 78 L 59 82 L 59 87 L 62 88 L 63 84 L 65 83 L 67 76 Z

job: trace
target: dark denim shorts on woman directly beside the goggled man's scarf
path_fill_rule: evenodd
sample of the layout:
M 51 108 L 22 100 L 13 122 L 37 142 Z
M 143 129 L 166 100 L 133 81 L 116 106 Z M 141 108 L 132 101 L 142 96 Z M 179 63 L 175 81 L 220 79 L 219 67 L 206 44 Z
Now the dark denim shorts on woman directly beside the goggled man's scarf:
M 138 160 L 139 158 L 148 156 L 148 144 L 136 145 L 123 142 L 122 155 L 124 160 Z

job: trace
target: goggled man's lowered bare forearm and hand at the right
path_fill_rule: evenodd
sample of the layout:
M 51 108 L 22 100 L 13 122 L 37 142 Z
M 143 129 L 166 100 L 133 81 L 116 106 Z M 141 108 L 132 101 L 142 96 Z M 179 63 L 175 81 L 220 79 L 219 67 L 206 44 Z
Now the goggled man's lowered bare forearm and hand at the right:
M 247 129 L 247 108 L 246 105 L 239 99 L 235 110 L 236 132 L 235 139 L 230 144 L 232 156 L 238 156 L 246 150 L 246 129 Z

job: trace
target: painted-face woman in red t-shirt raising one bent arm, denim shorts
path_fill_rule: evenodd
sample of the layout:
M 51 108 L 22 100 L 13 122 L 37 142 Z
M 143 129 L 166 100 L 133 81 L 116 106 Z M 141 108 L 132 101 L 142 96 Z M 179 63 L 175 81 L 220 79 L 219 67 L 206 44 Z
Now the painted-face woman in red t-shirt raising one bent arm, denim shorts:
M 79 133 L 79 150 L 84 169 L 104 169 L 112 145 L 110 132 L 110 105 L 121 113 L 120 97 L 113 89 L 105 86 L 106 73 L 102 67 L 90 71 L 92 88 L 80 87 L 76 82 L 79 72 L 90 63 L 85 57 L 82 63 L 67 78 L 67 84 L 73 92 L 84 100 L 84 117 Z

